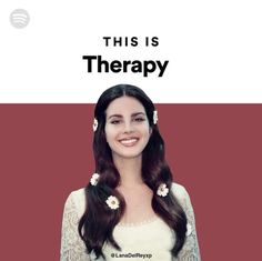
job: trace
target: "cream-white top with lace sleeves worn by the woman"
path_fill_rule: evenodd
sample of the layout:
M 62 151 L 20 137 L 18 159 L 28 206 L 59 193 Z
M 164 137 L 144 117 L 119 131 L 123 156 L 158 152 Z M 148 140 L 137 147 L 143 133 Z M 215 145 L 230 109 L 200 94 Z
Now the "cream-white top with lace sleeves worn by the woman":
M 175 233 L 155 215 L 139 224 L 121 224 L 114 227 L 113 237 L 122 251 L 110 244 L 103 245 L 107 261 L 201 261 L 194 213 L 187 190 L 172 184 L 172 192 L 181 203 L 188 217 L 185 243 L 178 259 L 172 258 L 170 250 L 175 242 Z M 62 220 L 62 240 L 60 261 L 91 261 L 94 254 L 87 254 L 85 245 L 78 234 L 78 222 L 85 209 L 84 189 L 71 192 L 68 197 Z M 102 261 L 99 258 L 98 261 Z

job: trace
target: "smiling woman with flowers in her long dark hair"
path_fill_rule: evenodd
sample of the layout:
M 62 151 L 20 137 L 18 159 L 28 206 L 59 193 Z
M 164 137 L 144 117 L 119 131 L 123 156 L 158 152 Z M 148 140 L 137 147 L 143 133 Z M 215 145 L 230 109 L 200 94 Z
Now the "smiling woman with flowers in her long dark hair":
M 95 173 L 67 199 L 61 261 L 200 260 L 185 189 L 172 182 L 152 101 L 105 90 L 94 109 Z

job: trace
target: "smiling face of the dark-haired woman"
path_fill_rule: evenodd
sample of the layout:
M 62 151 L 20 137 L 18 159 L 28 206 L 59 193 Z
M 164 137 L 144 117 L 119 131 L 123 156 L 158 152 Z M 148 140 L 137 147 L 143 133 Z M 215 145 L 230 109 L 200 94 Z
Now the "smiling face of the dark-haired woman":
M 131 97 L 113 100 L 105 111 L 104 131 L 114 160 L 141 157 L 151 134 L 142 103 Z

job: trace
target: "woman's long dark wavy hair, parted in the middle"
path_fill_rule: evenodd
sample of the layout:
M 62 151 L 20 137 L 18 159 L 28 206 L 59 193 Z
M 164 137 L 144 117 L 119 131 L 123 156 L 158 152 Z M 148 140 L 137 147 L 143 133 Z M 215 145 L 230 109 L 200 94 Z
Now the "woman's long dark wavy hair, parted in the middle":
M 93 251 L 97 257 L 104 258 L 102 252 L 104 243 L 111 243 L 117 250 L 121 250 L 113 238 L 113 229 L 124 212 L 125 202 L 115 189 L 120 182 L 120 174 L 105 140 L 104 126 L 108 106 L 114 99 L 123 96 L 135 98 L 142 103 L 152 129 L 149 142 L 142 152 L 142 179 L 153 191 L 152 208 L 154 212 L 175 232 L 175 243 L 171 252 L 177 257 L 185 240 L 187 215 L 172 193 L 168 193 L 167 197 L 157 195 L 161 183 L 165 183 L 171 190 L 172 173 L 165 162 L 163 139 L 158 126 L 153 123 L 154 106 L 140 88 L 130 84 L 109 88 L 97 102 L 94 118 L 98 120 L 98 128 L 93 138 L 93 154 L 95 172 L 100 174 L 100 178 L 97 185 L 89 183 L 85 188 L 87 208 L 79 222 L 79 234 L 84 241 L 88 252 Z M 112 211 L 105 204 L 109 195 L 119 199 L 120 208 Z

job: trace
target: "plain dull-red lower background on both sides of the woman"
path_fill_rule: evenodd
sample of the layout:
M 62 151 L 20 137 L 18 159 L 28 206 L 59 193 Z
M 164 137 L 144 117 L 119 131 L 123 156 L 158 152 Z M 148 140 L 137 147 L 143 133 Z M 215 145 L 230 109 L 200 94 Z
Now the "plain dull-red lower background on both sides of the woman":
M 202 260 L 260 260 L 262 104 L 157 104 Z M 93 104 L 0 106 L 1 260 L 59 260 L 63 203 L 93 170 Z

